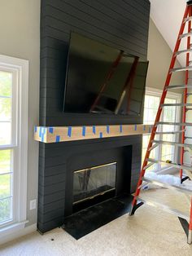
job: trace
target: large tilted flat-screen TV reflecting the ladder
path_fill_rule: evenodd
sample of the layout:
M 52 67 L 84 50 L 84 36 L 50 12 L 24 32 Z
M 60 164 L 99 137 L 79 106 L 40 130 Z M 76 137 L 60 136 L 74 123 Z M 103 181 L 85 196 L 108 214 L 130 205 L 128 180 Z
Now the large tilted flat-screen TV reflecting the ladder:
M 71 33 L 63 111 L 140 116 L 148 61 Z

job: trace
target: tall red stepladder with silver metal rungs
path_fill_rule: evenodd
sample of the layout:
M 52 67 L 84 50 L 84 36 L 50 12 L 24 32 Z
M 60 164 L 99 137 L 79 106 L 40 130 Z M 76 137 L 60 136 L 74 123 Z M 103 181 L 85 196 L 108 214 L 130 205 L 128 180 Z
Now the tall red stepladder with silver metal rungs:
M 150 154 L 151 151 L 158 147 L 159 144 L 161 143 L 171 143 L 177 147 L 181 148 L 180 151 L 180 163 L 170 163 L 168 162 L 168 166 L 176 166 L 180 172 L 180 179 L 181 179 L 181 183 L 183 183 L 186 179 L 190 179 L 192 177 L 192 166 L 190 168 L 190 166 L 185 166 L 184 165 L 184 152 L 185 152 L 185 148 L 192 148 L 192 145 L 190 145 L 189 143 L 185 143 L 185 126 L 192 126 L 192 122 L 186 122 L 186 112 L 191 109 L 191 108 L 187 108 L 190 107 L 192 104 L 189 104 L 187 102 L 187 96 L 191 95 L 191 93 L 188 92 L 188 88 L 192 87 L 190 85 L 190 83 L 188 84 L 189 80 L 191 79 L 191 77 L 189 77 L 189 71 L 190 69 L 192 69 L 192 66 L 190 66 L 190 64 L 192 64 L 192 60 L 190 60 L 190 52 L 192 51 L 192 44 L 190 42 L 190 37 L 192 36 L 192 29 L 191 29 L 191 21 L 192 21 L 192 0 L 188 1 L 186 4 L 186 8 L 185 8 L 185 13 L 183 16 L 183 20 L 181 22 L 181 28 L 179 30 L 178 33 L 178 37 L 177 37 L 177 42 L 176 42 L 176 46 L 174 48 L 173 54 L 172 54 L 172 60 L 171 60 L 171 64 L 169 66 L 168 69 L 168 75 L 165 81 L 165 85 L 164 85 L 164 90 L 159 102 L 159 108 L 155 117 L 155 123 L 154 126 L 151 130 L 151 137 L 148 143 L 148 147 L 146 149 L 146 156 L 145 159 L 143 161 L 142 164 L 142 170 L 140 172 L 139 175 L 139 179 L 138 179 L 138 183 L 137 183 L 137 188 L 136 188 L 136 192 L 133 196 L 133 201 L 132 201 L 132 207 L 131 210 L 129 212 L 129 216 L 133 215 L 135 213 L 135 211 L 137 210 L 137 208 L 139 208 L 140 206 L 142 206 L 143 204 L 146 205 L 154 205 L 154 206 L 159 206 L 160 209 L 164 209 L 167 210 L 168 212 L 177 214 L 177 217 L 180 220 L 181 226 L 183 227 L 185 234 L 187 236 L 187 243 L 188 244 L 192 244 L 192 196 L 191 196 L 191 191 L 188 191 L 189 194 L 191 196 L 191 200 L 190 200 L 190 214 L 189 216 L 185 216 L 185 214 L 182 214 L 181 212 L 179 212 L 178 210 L 172 210 L 169 206 L 167 205 L 160 205 L 159 203 L 156 202 L 151 202 L 151 201 L 147 201 L 146 199 L 142 199 L 142 197 L 140 196 L 140 192 L 141 192 L 141 188 L 143 187 L 143 182 L 145 183 L 155 183 L 157 185 L 159 185 L 160 187 L 163 188 L 168 188 L 168 189 L 173 189 L 173 190 L 177 190 L 179 192 L 183 192 L 184 189 L 179 187 L 179 186 L 172 186 L 168 183 L 159 183 L 158 181 L 152 180 L 152 179 L 145 179 L 144 175 L 146 173 L 146 170 L 148 167 L 150 167 L 153 163 L 162 163 L 164 162 L 164 164 L 166 165 L 167 161 L 162 161 L 162 160 L 158 160 L 156 161 L 155 159 L 151 159 L 150 158 Z M 185 24 L 188 23 L 188 30 L 187 33 L 184 33 L 184 29 L 185 29 Z M 181 50 L 179 51 L 180 45 L 181 45 L 181 40 L 183 38 L 187 38 L 187 46 L 185 50 Z M 186 55 L 186 62 L 185 62 L 185 67 L 183 68 L 174 68 L 175 64 L 176 64 L 176 60 L 177 60 L 177 56 L 180 54 L 185 54 Z M 175 73 L 177 71 L 181 71 L 181 72 L 185 72 L 185 83 L 183 85 L 179 85 L 179 86 L 175 86 L 175 85 L 170 85 L 171 82 L 171 77 L 172 77 L 172 73 Z M 182 104 L 164 104 L 167 92 L 169 89 L 183 89 L 184 90 L 184 95 L 183 95 L 183 102 Z M 161 117 L 161 113 L 164 109 L 164 107 L 168 107 L 168 106 L 176 106 L 176 107 L 180 107 L 182 108 L 182 119 L 181 122 L 164 122 L 164 121 L 160 121 L 160 117 Z M 192 110 L 192 109 L 191 109 Z M 170 141 L 158 141 L 155 139 L 155 135 L 160 134 L 160 132 L 157 132 L 157 128 L 159 125 L 174 125 L 174 126 L 180 126 L 179 128 L 179 133 L 181 133 L 181 141 L 178 142 L 176 141 L 175 143 Z M 175 133 L 178 133 L 178 131 L 176 130 Z M 166 134 L 166 132 L 162 132 L 162 134 Z M 170 132 L 168 132 L 168 134 L 170 134 Z M 174 134 L 174 130 L 173 132 L 171 132 L 171 134 Z M 183 169 L 182 169 L 183 168 Z M 185 171 L 186 174 L 189 174 L 189 176 L 183 175 L 183 171 Z M 192 181 L 191 181 L 192 183 Z M 172 188 L 170 188 L 172 186 Z M 185 193 L 187 193 L 187 190 L 185 190 Z

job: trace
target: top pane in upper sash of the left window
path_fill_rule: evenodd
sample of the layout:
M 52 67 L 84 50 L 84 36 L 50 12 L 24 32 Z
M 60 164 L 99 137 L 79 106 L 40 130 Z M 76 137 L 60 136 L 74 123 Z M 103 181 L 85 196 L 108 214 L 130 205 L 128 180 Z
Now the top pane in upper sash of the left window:
M 0 97 L 11 97 L 12 73 L 0 71 Z

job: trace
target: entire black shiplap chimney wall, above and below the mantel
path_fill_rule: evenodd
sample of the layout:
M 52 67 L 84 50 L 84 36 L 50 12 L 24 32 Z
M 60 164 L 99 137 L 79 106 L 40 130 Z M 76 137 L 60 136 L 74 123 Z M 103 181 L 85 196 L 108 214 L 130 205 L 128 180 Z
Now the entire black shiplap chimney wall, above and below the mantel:
M 146 59 L 149 15 L 148 0 L 41 0 L 40 126 L 142 123 L 142 116 L 63 113 L 63 90 L 71 31 Z M 133 192 L 141 167 L 142 135 L 40 143 L 39 231 L 63 224 L 68 159 L 75 161 L 76 154 L 93 148 L 99 151 L 128 145 L 132 145 L 132 167 L 127 184 Z

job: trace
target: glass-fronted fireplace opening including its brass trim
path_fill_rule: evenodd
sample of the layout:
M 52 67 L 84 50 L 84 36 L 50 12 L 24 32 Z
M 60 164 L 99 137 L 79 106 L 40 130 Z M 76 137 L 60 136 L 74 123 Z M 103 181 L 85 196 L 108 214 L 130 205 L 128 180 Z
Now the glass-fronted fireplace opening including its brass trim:
M 73 210 L 80 205 L 89 205 L 97 201 L 116 196 L 117 163 L 92 166 L 73 172 Z

